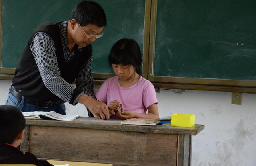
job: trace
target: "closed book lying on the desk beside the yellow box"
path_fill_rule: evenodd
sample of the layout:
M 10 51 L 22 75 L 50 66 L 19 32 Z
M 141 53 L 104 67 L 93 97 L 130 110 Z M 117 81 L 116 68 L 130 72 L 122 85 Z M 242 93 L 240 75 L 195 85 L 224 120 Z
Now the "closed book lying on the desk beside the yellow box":
M 121 125 L 146 125 L 155 126 L 159 123 L 159 119 L 155 118 L 130 118 L 121 121 Z

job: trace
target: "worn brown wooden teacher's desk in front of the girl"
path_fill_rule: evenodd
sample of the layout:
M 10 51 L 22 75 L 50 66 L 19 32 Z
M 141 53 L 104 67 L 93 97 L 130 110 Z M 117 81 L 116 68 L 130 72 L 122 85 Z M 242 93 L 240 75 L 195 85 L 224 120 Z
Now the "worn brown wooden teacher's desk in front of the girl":
M 121 125 L 120 120 L 26 120 L 23 152 L 38 158 L 114 166 L 190 166 L 194 127 Z

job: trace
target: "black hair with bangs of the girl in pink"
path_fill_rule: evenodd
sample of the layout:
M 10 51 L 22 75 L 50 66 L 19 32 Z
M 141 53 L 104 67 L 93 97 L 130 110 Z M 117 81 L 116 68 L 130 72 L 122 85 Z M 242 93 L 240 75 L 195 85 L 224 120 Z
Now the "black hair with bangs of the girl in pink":
M 108 56 L 108 64 L 132 65 L 137 74 L 141 75 L 141 52 L 138 43 L 133 39 L 120 39 L 112 47 Z

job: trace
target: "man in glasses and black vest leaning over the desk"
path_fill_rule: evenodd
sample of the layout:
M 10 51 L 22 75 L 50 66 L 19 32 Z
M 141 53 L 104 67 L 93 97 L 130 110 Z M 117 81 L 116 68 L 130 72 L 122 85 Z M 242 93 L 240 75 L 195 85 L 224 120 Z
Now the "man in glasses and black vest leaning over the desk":
M 65 113 L 64 102 L 78 102 L 90 117 L 109 119 L 106 104 L 94 96 L 91 43 L 102 37 L 106 26 L 103 8 L 82 1 L 71 19 L 43 23 L 32 33 L 15 71 L 6 104 L 21 111 Z M 76 88 L 71 84 L 76 79 Z

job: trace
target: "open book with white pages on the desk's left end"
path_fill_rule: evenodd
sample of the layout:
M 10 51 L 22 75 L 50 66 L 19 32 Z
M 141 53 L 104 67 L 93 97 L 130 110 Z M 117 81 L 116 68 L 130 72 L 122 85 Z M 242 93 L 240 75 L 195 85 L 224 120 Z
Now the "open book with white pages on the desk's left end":
M 35 111 L 35 112 L 22 112 L 25 119 L 55 119 L 58 121 L 72 121 L 78 117 L 79 115 L 61 115 L 59 113 L 56 113 L 54 111 L 50 112 L 41 112 L 41 111 Z

